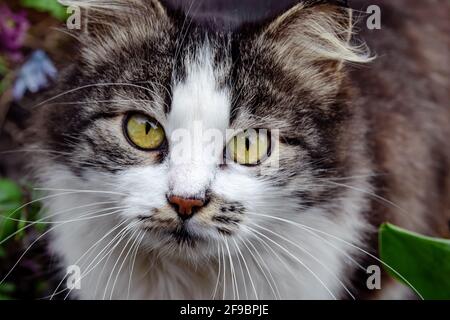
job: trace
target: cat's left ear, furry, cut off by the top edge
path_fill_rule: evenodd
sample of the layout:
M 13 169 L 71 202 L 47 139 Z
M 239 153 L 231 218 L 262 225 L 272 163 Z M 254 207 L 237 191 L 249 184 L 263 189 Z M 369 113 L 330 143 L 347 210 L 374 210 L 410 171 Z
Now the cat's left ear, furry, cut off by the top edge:
M 83 62 L 93 66 L 111 53 L 132 49 L 132 44 L 163 36 L 170 29 L 166 8 L 158 0 L 59 0 L 81 9 L 80 41 Z

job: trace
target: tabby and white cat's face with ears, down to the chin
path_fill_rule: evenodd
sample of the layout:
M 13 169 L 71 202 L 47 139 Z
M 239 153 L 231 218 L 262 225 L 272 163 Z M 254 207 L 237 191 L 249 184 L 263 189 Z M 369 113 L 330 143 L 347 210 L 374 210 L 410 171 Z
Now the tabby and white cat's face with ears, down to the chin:
M 216 31 L 157 2 L 119 3 L 132 12 L 94 10 L 108 24 L 92 20 L 63 94 L 40 111 L 40 181 L 91 190 L 66 201 L 112 202 L 107 223 L 183 258 L 267 242 L 283 219 L 334 223 L 326 208 L 343 195 L 326 181 L 351 172 L 342 64 L 365 59 L 342 37 L 345 11 L 298 5 Z

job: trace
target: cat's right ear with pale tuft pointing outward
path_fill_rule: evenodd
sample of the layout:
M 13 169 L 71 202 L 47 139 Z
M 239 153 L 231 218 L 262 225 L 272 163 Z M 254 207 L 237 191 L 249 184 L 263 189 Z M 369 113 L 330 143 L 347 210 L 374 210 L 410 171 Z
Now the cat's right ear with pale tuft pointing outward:
M 352 43 L 352 10 L 342 5 L 345 1 L 323 2 L 300 3 L 277 17 L 263 28 L 263 43 L 281 63 L 299 72 L 311 65 L 340 71 L 345 62 L 370 61 L 367 47 Z

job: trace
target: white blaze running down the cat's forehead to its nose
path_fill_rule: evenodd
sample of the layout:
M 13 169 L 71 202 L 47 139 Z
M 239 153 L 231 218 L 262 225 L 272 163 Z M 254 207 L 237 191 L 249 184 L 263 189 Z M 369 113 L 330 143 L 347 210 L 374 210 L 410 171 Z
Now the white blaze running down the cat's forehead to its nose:
M 169 187 L 172 194 L 201 196 L 208 188 L 221 157 L 212 150 L 222 145 L 230 117 L 230 97 L 217 81 L 211 48 L 203 46 L 186 63 L 186 77 L 174 83 L 167 121 L 171 143 Z M 214 136 L 214 139 L 211 139 Z M 214 145 L 216 143 L 216 145 Z

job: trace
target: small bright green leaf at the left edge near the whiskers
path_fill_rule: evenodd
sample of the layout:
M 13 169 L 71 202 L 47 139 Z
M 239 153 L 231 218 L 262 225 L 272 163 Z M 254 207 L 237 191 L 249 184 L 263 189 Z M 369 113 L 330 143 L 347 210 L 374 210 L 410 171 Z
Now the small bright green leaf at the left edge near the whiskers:
M 22 204 L 22 190 L 11 180 L 0 179 L 0 242 L 17 230 Z

